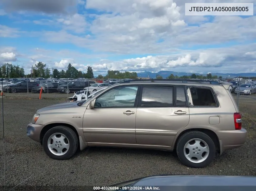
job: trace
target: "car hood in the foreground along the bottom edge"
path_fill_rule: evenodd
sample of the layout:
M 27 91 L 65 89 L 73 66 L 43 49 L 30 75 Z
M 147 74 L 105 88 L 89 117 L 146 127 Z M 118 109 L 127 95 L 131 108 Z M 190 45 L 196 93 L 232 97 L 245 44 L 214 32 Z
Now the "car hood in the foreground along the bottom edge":
M 256 190 L 256 177 L 163 175 L 135 179 L 111 186 L 118 187 L 120 191 L 124 189 L 159 191 L 253 191 Z

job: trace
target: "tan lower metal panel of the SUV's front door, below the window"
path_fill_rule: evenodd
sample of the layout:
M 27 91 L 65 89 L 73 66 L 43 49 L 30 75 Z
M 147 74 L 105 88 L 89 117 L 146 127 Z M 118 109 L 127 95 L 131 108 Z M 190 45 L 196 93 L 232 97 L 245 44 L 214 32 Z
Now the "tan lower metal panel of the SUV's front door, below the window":
M 130 110 L 134 114 L 123 112 Z M 136 144 L 136 108 L 88 108 L 83 120 L 83 131 L 88 142 Z

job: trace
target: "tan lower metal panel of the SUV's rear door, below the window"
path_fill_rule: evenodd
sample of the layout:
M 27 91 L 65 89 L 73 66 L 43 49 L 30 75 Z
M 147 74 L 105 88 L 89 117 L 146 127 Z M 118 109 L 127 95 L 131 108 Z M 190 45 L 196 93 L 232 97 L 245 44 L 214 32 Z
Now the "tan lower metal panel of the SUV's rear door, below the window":
M 186 114 L 175 114 L 181 110 Z M 175 135 L 189 123 L 188 107 L 138 108 L 136 140 L 142 145 L 172 146 Z

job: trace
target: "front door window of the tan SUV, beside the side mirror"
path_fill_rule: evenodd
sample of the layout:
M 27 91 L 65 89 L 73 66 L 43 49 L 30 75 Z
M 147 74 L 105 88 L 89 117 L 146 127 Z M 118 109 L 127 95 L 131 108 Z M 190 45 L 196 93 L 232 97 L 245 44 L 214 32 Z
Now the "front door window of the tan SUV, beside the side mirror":
M 95 100 L 95 108 L 135 107 L 138 86 L 122 86 L 111 89 Z

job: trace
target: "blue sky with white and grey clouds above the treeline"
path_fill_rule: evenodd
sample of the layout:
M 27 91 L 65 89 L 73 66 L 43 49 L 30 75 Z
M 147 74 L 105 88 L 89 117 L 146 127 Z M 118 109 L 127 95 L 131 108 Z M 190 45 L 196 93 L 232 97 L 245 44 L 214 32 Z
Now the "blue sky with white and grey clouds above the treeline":
M 185 0 L 0 0 L 0 65 L 256 73 L 254 16 L 185 16 Z M 221 0 L 190 0 L 223 2 Z

